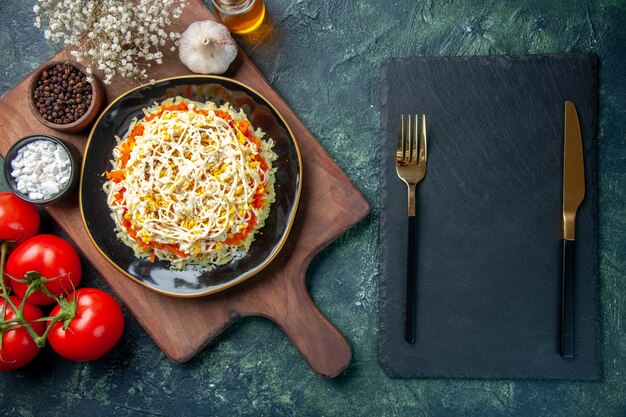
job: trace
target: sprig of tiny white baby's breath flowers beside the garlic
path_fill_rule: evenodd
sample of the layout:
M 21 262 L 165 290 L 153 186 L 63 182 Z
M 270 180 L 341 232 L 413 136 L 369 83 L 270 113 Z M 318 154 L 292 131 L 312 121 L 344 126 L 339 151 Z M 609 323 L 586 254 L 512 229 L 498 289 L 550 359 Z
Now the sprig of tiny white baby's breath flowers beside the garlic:
M 145 79 L 151 61 L 163 63 L 160 48 L 180 39 L 166 28 L 181 16 L 188 0 L 37 1 L 35 27 L 47 24 L 46 39 L 74 46 L 70 54 L 85 64 L 87 74 L 97 68 L 110 84 L 116 74 Z

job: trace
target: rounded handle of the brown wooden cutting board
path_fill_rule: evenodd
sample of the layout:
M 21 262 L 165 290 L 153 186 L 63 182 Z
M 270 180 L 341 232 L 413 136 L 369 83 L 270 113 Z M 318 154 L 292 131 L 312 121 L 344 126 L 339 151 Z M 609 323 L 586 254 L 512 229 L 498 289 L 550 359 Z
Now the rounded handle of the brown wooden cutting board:
M 350 344 L 315 306 L 304 276 L 288 281 L 284 295 L 285 303 L 264 315 L 285 332 L 315 372 L 328 378 L 339 375 L 350 365 Z

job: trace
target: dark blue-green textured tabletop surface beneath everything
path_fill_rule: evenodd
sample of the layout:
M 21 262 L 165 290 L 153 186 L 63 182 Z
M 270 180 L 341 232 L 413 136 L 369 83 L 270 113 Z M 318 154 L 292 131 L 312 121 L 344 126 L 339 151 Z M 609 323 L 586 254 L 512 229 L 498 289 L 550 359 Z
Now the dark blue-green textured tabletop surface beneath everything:
M 0 1 L 0 92 L 58 48 L 32 26 L 35 0 Z M 245 319 L 176 365 L 125 311 L 122 341 L 71 363 L 48 349 L 0 375 L 6 415 L 626 415 L 626 1 L 267 0 L 268 24 L 242 48 L 372 205 L 319 254 L 308 285 L 346 335 L 353 361 L 326 380 L 263 319 Z M 377 362 L 381 63 L 415 55 L 595 52 L 598 126 L 600 383 L 397 380 Z M 0 134 L 1 129 L 0 129 Z M 306 155 L 305 155 L 306 157 Z M 85 264 L 87 267 L 87 264 Z M 87 272 L 86 285 L 106 288 Z

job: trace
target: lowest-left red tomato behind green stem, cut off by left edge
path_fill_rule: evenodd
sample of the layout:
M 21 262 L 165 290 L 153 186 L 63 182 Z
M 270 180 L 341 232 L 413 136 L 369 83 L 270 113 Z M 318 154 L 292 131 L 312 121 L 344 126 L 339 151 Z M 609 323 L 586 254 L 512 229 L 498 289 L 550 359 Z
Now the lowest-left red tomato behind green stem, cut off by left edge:
M 13 303 L 19 308 L 21 301 L 17 297 L 11 297 Z M 4 299 L 0 299 L 0 315 L 4 308 Z M 4 313 L 4 320 L 10 320 L 15 317 L 15 312 L 11 308 L 11 305 L 7 305 Z M 33 322 L 34 320 L 43 317 L 41 310 L 37 306 L 26 304 L 24 306 L 24 318 L 33 327 L 33 330 L 41 336 L 45 329 L 45 324 L 40 322 Z M 9 323 L 10 326 L 13 323 Z M 2 347 L 0 347 L 0 371 L 12 371 L 17 368 L 21 368 L 28 362 L 32 361 L 39 353 L 39 347 L 33 340 L 30 334 L 20 327 L 18 329 L 9 330 L 2 334 Z

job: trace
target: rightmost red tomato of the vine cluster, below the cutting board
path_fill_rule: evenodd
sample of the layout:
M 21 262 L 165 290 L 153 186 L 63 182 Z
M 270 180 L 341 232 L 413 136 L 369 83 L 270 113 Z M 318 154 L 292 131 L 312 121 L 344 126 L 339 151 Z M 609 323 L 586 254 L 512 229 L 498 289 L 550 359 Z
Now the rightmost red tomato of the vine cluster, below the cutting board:
M 97 359 L 115 346 L 124 330 L 122 308 L 111 295 L 97 288 L 81 288 L 66 298 L 76 300 L 76 316 L 52 325 L 48 342 L 66 359 L 82 362 Z M 57 305 L 50 313 L 61 312 Z

